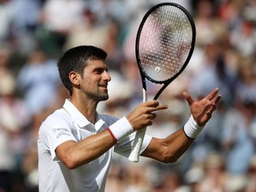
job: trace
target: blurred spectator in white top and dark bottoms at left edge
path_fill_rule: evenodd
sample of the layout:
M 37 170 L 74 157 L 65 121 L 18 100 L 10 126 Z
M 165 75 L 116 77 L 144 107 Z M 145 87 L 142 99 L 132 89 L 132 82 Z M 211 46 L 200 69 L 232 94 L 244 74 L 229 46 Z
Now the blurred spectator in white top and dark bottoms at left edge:
M 8 192 L 14 185 L 13 176 L 16 171 L 19 172 L 19 158 L 26 148 L 25 145 L 17 148 L 16 144 L 29 118 L 25 103 L 15 95 L 13 76 L 5 74 L 0 82 L 0 191 Z

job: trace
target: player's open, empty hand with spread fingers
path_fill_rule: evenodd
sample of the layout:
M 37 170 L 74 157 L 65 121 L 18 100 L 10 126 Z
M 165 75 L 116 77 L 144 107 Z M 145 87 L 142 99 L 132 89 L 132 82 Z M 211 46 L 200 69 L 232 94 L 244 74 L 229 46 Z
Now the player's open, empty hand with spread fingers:
M 221 98 L 221 95 L 217 95 L 217 92 L 219 92 L 219 89 L 215 88 L 206 97 L 198 101 L 193 100 L 188 92 L 183 92 L 184 98 L 188 101 L 191 114 L 199 126 L 204 126 L 211 119 L 212 112 L 216 109 L 216 104 Z

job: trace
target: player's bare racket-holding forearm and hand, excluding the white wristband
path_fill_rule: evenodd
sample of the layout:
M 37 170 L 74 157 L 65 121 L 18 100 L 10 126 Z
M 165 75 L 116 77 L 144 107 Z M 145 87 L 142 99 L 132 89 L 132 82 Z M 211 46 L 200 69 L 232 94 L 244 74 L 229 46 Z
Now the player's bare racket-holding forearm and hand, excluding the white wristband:
M 152 124 L 156 114 L 154 111 L 167 108 L 159 105 L 156 100 L 140 104 L 126 116 L 133 130 L 138 130 Z M 122 127 L 118 127 L 122 129 Z M 124 127 L 123 127 L 124 128 Z M 108 151 L 116 144 L 113 136 L 105 130 L 79 142 L 68 140 L 56 148 L 56 155 L 69 169 L 74 169 L 82 164 L 87 164 Z

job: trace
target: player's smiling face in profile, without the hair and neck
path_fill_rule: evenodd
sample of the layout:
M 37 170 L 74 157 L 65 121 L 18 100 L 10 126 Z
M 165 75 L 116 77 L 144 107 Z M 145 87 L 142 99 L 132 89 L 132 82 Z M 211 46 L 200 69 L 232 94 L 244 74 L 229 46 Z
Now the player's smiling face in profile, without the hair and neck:
M 88 61 L 83 75 L 78 76 L 78 89 L 86 100 L 108 100 L 108 82 L 111 77 L 103 60 Z

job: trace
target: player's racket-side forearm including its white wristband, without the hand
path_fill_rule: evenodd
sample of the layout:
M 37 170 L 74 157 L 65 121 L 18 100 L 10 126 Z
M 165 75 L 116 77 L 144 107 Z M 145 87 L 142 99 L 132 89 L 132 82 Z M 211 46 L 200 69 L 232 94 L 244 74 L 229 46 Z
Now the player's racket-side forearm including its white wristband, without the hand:
M 79 165 L 87 164 L 112 148 L 118 140 L 133 132 L 131 124 L 124 117 L 109 126 L 103 132 L 98 132 L 84 140 L 67 141 L 62 143 L 56 154 L 68 168 L 76 168 Z

